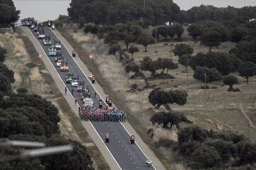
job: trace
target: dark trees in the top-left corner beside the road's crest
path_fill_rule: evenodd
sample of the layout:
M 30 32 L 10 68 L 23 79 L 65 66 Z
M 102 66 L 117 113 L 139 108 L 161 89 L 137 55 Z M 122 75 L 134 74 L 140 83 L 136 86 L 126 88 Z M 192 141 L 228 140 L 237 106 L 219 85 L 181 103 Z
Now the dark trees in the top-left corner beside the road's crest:
M 9 27 L 12 23 L 18 21 L 20 11 L 16 10 L 14 1 L 0 1 L 0 28 Z

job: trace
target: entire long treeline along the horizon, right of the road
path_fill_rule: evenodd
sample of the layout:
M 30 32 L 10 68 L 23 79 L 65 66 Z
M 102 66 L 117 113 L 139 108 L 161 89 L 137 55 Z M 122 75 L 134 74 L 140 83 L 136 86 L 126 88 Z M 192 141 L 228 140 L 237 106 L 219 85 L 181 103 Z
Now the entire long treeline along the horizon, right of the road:
M 148 0 L 144 10 L 143 1 L 73 0 L 68 8 L 68 15 L 78 23 L 95 23 L 106 25 L 139 21 L 144 26 L 161 25 L 166 22 L 198 23 L 202 21 L 218 21 L 245 23 L 250 18 L 256 18 L 256 7 L 245 6 L 235 8 L 228 6 L 195 6 L 188 11 L 180 11 L 173 1 Z M 143 18 L 143 19 L 142 19 Z

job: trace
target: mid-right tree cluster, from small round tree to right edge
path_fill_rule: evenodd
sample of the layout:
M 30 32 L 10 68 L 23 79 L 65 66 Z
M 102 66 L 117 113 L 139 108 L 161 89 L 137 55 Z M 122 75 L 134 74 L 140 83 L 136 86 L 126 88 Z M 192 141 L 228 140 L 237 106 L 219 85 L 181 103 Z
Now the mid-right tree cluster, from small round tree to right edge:
M 218 81 L 223 79 L 222 76 L 239 72 L 240 76 L 245 77 L 247 84 L 249 84 L 249 78 L 256 74 L 256 64 L 254 63 L 256 51 L 254 45 L 256 45 L 255 39 L 250 41 L 242 40 L 237 47 L 230 50 L 230 53 L 208 52 L 205 54 L 199 52 L 191 56 L 193 48 L 181 43 L 175 45 L 174 55 L 178 55 L 178 62 L 186 69 L 190 66 L 194 70 L 193 77 L 200 81 Z M 226 77 L 223 83 L 229 85 L 230 88 L 228 90 L 232 91 L 233 84 L 237 84 L 238 81 L 228 78 Z

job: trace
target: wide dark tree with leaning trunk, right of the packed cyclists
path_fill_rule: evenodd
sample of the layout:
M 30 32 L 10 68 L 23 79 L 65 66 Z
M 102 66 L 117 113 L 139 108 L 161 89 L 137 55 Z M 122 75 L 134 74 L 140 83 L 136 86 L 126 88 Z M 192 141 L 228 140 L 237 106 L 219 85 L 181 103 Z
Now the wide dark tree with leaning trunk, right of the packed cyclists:
M 149 94 L 149 103 L 159 108 L 162 105 L 168 105 L 172 103 L 176 103 L 178 105 L 183 106 L 186 104 L 186 98 L 188 94 L 186 91 L 164 91 L 163 89 L 156 88 Z

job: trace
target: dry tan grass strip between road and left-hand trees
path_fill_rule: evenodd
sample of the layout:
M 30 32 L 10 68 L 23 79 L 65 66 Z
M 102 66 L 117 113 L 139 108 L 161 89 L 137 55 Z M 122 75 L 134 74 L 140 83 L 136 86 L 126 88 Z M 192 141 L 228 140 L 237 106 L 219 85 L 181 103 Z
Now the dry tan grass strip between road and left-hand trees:
M 26 36 L 23 36 L 22 30 L 18 29 L 18 33 L 0 34 L 0 45 L 6 47 L 8 51 L 4 64 L 15 73 L 16 82 L 12 86 L 14 91 L 18 87 L 24 87 L 28 89 L 29 93 L 41 95 L 43 98 L 52 101 L 58 108 L 61 118 L 59 123 L 61 135 L 82 142 L 87 147 L 96 169 L 109 169 L 100 151 L 82 127 L 80 120 L 58 91 L 46 67 L 39 61 L 32 43 Z

